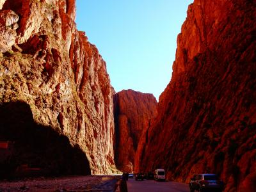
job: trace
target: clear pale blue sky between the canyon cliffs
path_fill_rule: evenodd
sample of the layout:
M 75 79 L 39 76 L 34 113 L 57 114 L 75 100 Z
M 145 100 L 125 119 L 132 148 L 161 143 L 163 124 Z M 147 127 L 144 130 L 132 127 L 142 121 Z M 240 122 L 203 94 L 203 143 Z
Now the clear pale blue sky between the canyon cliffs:
M 77 0 L 76 23 L 99 49 L 116 92 L 153 93 L 172 77 L 177 35 L 193 0 Z

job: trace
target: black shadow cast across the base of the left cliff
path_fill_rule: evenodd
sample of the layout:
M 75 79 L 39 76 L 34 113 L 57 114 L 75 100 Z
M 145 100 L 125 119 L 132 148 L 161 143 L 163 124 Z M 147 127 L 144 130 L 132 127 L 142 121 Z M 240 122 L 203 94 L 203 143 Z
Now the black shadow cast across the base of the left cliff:
M 28 104 L 0 104 L 0 179 L 90 174 L 84 152 L 52 127 L 36 124 Z

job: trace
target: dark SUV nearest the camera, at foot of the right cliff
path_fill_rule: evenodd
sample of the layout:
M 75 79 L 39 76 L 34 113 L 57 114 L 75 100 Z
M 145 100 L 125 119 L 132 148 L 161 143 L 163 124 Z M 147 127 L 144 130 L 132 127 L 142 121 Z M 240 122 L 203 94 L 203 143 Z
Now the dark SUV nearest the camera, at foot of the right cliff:
M 223 191 L 223 182 L 216 174 L 194 175 L 189 182 L 190 192 L 197 191 Z

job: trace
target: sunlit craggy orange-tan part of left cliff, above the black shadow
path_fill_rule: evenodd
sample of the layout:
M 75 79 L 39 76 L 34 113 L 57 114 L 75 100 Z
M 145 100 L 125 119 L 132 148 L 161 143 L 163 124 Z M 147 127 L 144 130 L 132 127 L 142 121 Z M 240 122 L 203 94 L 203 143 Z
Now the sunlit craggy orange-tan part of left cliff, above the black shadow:
M 75 1 L 0 8 L 0 102 L 25 102 L 36 124 L 83 150 L 92 173 L 111 173 L 114 91 L 97 48 L 76 29 Z

